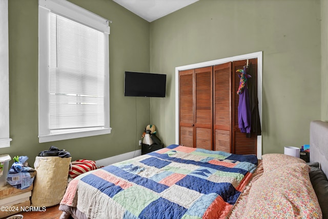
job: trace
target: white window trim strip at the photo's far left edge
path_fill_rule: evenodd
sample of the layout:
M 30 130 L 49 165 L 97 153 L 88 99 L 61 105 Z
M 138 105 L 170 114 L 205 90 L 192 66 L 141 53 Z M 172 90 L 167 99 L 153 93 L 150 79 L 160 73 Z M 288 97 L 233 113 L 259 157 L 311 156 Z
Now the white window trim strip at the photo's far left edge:
M 0 148 L 10 147 L 9 137 L 8 0 L 0 0 Z

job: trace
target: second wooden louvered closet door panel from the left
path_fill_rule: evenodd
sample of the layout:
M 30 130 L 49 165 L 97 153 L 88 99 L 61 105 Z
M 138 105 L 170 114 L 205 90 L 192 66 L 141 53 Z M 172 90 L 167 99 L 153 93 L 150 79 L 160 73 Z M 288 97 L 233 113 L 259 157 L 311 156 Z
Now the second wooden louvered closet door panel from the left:
M 195 69 L 196 147 L 212 150 L 212 66 Z

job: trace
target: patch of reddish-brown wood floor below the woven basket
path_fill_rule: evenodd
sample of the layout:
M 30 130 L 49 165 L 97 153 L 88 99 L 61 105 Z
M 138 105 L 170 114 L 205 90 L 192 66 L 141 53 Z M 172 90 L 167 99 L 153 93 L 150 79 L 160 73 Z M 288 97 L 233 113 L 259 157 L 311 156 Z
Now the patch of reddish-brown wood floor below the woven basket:
M 24 216 L 23 219 L 58 219 L 61 215 L 59 209 L 59 205 L 47 207 L 46 211 L 30 211 L 30 212 L 19 212 L 17 214 L 22 214 Z M 8 216 L 9 217 L 9 216 Z

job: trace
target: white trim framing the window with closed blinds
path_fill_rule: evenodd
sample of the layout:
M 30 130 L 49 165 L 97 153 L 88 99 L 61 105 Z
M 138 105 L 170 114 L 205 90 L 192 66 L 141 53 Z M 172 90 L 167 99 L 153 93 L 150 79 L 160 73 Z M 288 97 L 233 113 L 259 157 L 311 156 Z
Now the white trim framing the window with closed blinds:
M 49 12 L 57 13 L 61 16 L 69 17 L 81 24 L 90 26 L 104 33 L 110 33 L 109 21 L 103 17 L 93 14 L 84 8 L 76 6 L 66 0 L 39 0 L 39 143 L 66 140 L 71 138 L 87 137 L 111 133 L 109 115 L 109 40 L 106 38 L 105 48 L 105 126 L 104 128 L 79 129 L 67 132 L 54 133 L 49 129 Z M 44 18 L 46 17 L 46 19 Z M 100 22 L 99 22 L 100 21 Z

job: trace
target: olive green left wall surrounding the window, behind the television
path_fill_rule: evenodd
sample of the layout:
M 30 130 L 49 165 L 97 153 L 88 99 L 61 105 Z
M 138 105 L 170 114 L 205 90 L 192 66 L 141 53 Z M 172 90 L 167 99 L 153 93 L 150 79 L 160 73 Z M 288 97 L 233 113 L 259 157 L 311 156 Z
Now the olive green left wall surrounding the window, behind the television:
M 29 156 L 50 146 L 66 149 L 72 160 L 99 160 L 140 149 L 137 142 L 150 123 L 150 98 L 124 96 L 124 72 L 149 72 L 149 22 L 108 0 L 71 2 L 103 16 L 110 24 L 111 134 L 38 143 L 38 1 L 9 0 L 10 148 L 0 154 Z

